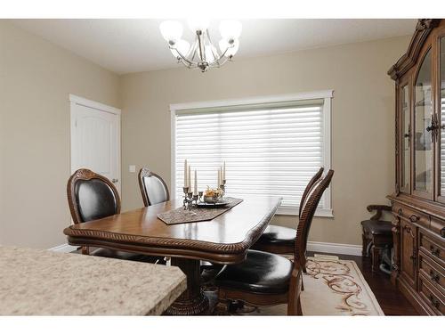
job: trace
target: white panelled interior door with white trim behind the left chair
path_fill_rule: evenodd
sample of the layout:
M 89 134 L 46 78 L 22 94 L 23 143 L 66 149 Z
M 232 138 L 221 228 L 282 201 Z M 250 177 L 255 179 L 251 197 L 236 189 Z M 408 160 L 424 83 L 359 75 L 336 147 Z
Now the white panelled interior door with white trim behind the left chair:
M 120 193 L 120 110 L 70 95 L 71 172 L 88 168 Z

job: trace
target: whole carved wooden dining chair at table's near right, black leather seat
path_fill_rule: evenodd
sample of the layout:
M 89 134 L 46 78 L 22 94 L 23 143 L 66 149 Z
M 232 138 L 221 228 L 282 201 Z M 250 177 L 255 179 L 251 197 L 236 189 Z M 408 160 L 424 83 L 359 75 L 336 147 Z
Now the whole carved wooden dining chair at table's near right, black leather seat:
M 333 175 L 334 171 L 329 170 L 319 183 L 314 183 L 303 202 L 295 233 L 294 261 L 277 254 L 248 250 L 245 261 L 225 266 L 214 279 L 220 302 L 231 305 L 241 301 L 255 306 L 287 304 L 288 315 L 302 315 L 300 294 L 307 239 L 315 210 Z

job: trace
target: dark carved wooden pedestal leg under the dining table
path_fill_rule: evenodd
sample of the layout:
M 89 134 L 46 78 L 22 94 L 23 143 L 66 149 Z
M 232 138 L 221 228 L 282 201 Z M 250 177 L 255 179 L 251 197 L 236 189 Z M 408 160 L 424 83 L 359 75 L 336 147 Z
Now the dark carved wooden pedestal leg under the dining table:
M 187 275 L 187 289 L 167 308 L 166 314 L 205 314 L 208 311 L 209 303 L 201 289 L 200 261 L 172 257 L 172 265 L 179 266 L 182 272 Z

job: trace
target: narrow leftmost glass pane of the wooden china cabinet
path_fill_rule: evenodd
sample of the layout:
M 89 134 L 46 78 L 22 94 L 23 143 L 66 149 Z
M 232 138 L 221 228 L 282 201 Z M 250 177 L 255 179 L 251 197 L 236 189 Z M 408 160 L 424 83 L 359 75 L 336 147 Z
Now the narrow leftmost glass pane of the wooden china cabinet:
M 410 142 L 411 130 L 409 127 L 409 86 L 401 87 L 401 191 L 409 193 L 410 175 L 409 175 L 409 159 L 410 159 Z

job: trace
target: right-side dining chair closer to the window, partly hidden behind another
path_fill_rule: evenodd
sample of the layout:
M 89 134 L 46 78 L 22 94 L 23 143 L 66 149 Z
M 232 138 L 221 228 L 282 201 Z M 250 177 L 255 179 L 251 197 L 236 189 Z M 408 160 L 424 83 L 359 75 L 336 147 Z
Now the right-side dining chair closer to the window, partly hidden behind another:
M 319 171 L 313 175 L 312 179 L 307 183 L 303 191 L 302 199 L 300 200 L 298 216 L 301 216 L 303 203 L 313 184 L 320 180 L 323 170 L 324 168 L 320 167 Z M 293 228 L 271 224 L 266 227 L 260 239 L 255 242 L 252 248 L 274 254 L 292 254 L 295 248 L 295 233 L 296 231 Z

